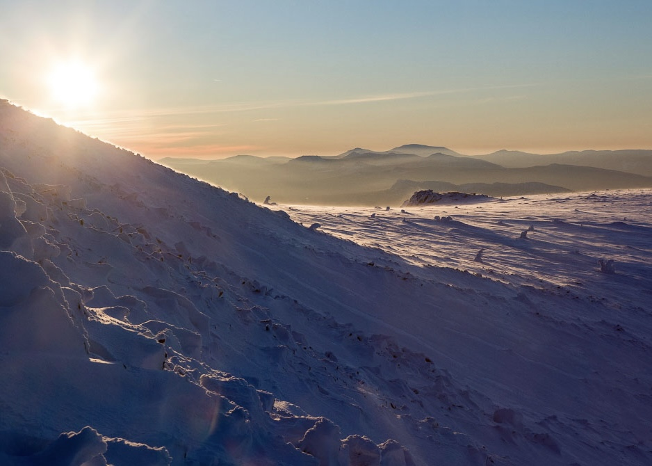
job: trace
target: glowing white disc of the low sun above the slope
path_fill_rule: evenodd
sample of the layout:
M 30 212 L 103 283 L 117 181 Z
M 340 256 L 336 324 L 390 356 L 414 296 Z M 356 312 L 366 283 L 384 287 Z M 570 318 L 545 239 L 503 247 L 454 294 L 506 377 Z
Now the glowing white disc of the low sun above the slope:
M 47 74 L 51 99 L 67 109 L 92 106 L 99 85 L 92 68 L 79 61 L 58 63 Z

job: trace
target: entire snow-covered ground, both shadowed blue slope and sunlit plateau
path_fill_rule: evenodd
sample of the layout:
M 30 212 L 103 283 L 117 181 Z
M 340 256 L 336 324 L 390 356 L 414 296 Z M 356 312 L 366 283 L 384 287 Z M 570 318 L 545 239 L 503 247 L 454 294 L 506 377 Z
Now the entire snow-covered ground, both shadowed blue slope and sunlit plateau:
M 258 205 L 3 101 L 0 465 L 650 465 L 651 259 L 651 190 Z

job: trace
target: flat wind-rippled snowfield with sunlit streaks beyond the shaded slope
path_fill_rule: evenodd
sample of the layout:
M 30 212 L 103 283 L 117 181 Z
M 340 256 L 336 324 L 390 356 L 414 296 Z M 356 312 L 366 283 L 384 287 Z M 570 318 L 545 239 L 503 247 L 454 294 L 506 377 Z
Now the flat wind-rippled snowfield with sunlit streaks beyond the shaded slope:
M 645 303 L 641 294 L 652 298 L 650 190 L 531 195 L 389 211 L 272 206 L 279 208 L 304 225 L 319 223 L 320 231 L 417 266 L 463 269 L 544 289 L 591 291 L 601 298 L 609 294 L 618 305 Z M 474 260 L 480 249 L 482 262 Z M 613 259 L 617 273 L 596 274 L 599 259 Z

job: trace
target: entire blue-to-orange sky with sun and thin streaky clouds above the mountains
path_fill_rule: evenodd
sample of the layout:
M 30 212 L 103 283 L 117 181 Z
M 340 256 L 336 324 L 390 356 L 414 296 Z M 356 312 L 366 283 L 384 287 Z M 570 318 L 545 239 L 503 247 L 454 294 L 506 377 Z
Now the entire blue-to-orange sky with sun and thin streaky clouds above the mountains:
M 651 0 L 0 0 L 0 95 L 140 152 L 652 149 Z

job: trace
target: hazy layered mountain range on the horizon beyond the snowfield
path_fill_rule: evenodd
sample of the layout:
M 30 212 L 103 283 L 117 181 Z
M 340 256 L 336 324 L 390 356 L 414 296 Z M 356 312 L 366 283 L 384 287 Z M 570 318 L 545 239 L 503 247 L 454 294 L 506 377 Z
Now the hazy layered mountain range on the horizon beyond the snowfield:
M 252 200 L 270 195 L 289 204 L 397 205 L 411 195 L 396 189 L 399 180 L 419 189 L 447 183 L 448 190 L 493 196 L 652 187 L 652 150 L 548 155 L 500 150 L 468 156 L 443 146 L 407 144 L 386 151 L 355 147 L 335 156 L 161 163 Z

